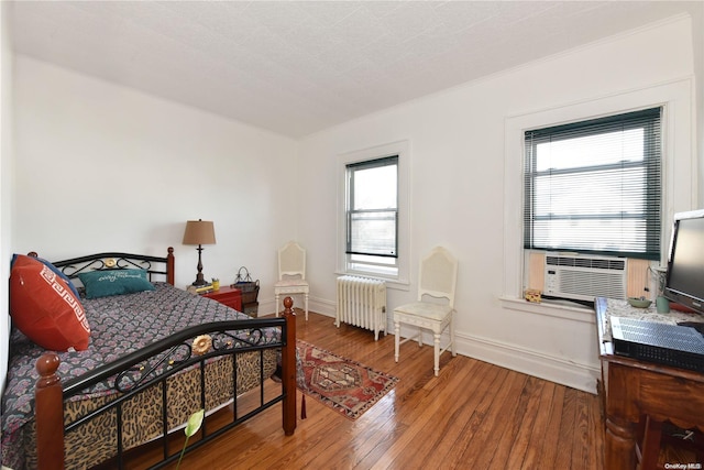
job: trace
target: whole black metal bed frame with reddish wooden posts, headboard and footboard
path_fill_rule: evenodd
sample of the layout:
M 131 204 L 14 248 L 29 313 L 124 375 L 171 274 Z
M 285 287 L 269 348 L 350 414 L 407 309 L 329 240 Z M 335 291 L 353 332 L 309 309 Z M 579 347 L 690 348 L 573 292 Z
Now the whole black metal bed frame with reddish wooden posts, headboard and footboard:
M 89 270 L 114 270 L 114 269 L 131 269 L 139 267 L 144 269 L 148 273 L 150 281 L 153 275 L 165 276 L 166 282 L 174 284 L 174 256 L 173 248 L 168 248 L 168 255 L 151 256 L 141 254 L 129 254 L 121 252 L 106 252 L 98 253 L 88 256 L 74 258 L 69 260 L 63 260 L 53 262 L 54 266 L 59 269 L 67 277 L 77 277 L 79 273 Z M 30 253 L 36 255 L 36 253 Z M 161 264 L 164 263 L 165 269 L 161 269 Z M 68 400 L 76 395 L 85 394 L 91 386 L 107 382 L 110 389 L 113 389 L 119 393 L 114 400 L 108 401 L 108 403 L 99 406 L 97 409 L 88 413 L 85 416 L 79 417 L 73 423 L 64 425 L 63 435 L 77 429 L 78 427 L 89 423 L 91 419 L 105 414 L 117 414 L 117 449 L 116 457 L 109 460 L 110 464 L 116 464 L 122 469 L 124 466 L 124 453 L 122 439 L 122 406 L 123 404 L 138 395 L 143 393 L 150 387 L 161 386 L 162 394 L 162 433 L 161 436 L 152 440 L 161 441 L 163 449 L 162 461 L 154 464 L 151 468 L 161 468 L 170 462 L 174 462 L 179 458 L 182 448 L 172 453 L 169 449 L 169 431 L 167 411 L 167 393 L 166 381 L 189 368 L 198 368 L 200 378 L 200 406 L 206 409 L 206 393 L 205 393 L 205 364 L 209 361 L 216 361 L 226 356 L 232 357 L 232 420 L 222 425 L 221 427 L 210 431 L 208 429 L 207 419 L 204 419 L 201 428 L 199 429 L 199 439 L 188 442 L 186 452 L 195 450 L 231 428 L 240 425 L 241 423 L 258 415 L 260 413 L 268 409 L 277 403 L 283 403 L 283 427 L 286 435 L 292 435 L 296 427 L 296 365 L 295 365 L 295 314 L 293 313 L 293 302 L 290 298 L 284 302 L 286 311 L 282 318 L 266 318 L 266 319 L 245 319 L 245 320 L 228 320 L 218 323 L 208 323 L 198 326 L 193 326 L 183 329 L 167 338 L 163 338 L 158 341 L 148 345 L 138 351 L 127 354 L 118 360 L 96 368 L 88 373 L 67 380 L 65 384 L 61 384 L 56 370 L 58 368 L 58 357 L 54 353 L 44 354 L 37 360 L 37 370 L 40 371 L 40 380 L 37 381 L 37 387 L 35 391 L 36 412 L 38 414 L 40 408 L 42 412 L 48 413 L 52 416 L 55 411 L 52 403 L 62 403 L 65 406 Z M 268 342 L 263 341 L 264 335 L 262 330 L 264 328 L 278 328 L 280 329 L 280 340 Z M 201 335 L 208 335 L 211 337 L 211 348 L 205 352 L 195 352 L 193 341 L 196 337 Z M 292 345 L 293 342 L 293 345 Z M 267 376 L 264 376 L 264 351 L 275 349 L 278 350 L 277 358 L 282 365 L 282 383 L 280 393 L 272 396 L 273 393 L 268 392 L 268 398 L 265 397 L 264 381 Z M 249 412 L 240 415 L 238 409 L 238 370 L 237 370 L 237 357 L 242 353 L 256 351 L 260 354 L 260 376 L 258 376 L 258 406 L 250 409 Z M 292 365 L 293 364 L 293 365 Z M 275 391 L 276 389 L 267 389 L 267 391 Z M 194 413 L 198 409 L 194 409 Z M 40 469 L 44 467 L 52 467 L 56 463 L 55 459 L 61 456 L 63 444 L 58 446 L 54 444 L 53 437 L 55 434 L 62 433 L 61 417 L 50 417 L 48 420 L 42 423 L 37 419 L 37 449 L 38 449 L 38 466 Z M 51 445 L 43 447 L 48 441 Z M 63 439 L 62 439 L 63 442 Z M 44 450 L 46 449 L 46 450 Z M 54 460 L 47 466 L 47 462 Z

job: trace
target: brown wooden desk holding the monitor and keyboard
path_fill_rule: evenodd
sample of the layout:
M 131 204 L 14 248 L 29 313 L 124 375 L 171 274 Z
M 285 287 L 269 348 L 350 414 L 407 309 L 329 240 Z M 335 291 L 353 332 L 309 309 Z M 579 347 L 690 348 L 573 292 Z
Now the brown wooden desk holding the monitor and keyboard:
M 622 303 L 615 304 L 618 302 Z M 605 298 L 597 298 L 595 305 L 602 360 L 600 394 L 606 417 L 606 469 L 636 468 L 636 428 L 644 416 L 669 420 L 684 429 L 704 430 L 704 374 L 614 354 L 608 317 L 620 316 L 628 308 L 625 300 Z M 647 315 L 664 323 L 676 323 L 685 315 L 637 310 L 641 319 Z M 701 316 L 689 319 L 704 320 Z

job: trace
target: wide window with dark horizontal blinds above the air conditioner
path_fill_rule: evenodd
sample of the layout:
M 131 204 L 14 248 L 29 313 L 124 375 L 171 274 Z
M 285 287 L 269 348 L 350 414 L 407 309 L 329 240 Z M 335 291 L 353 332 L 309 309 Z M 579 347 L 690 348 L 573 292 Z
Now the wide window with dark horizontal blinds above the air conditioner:
M 660 260 L 660 114 L 526 131 L 524 248 Z

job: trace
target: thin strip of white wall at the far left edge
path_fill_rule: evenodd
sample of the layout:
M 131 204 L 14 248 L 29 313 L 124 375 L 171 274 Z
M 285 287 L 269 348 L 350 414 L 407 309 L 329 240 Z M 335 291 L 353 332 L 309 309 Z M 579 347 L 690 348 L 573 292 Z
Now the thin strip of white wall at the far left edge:
M 0 3 L 0 278 L 10 277 L 12 201 L 12 45 L 10 6 Z M 0 283 L 0 392 L 8 370 L 8 283 Z

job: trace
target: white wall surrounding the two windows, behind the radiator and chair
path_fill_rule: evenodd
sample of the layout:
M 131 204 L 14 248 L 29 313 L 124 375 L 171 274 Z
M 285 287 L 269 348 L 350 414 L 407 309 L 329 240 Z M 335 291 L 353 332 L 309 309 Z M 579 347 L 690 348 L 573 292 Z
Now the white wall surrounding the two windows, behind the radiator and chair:
M 504 167 L 506 120 L 691 79 L 692 54 L 690 20 L 679 18 L 304 139 L 299 174 L 305 210 L 299 233 L 304 244 L 315 247 L 308 261 L 312 308 L 334 311 L 336 156 L 408 139 L 411 265 L 417 266 L 419 256 L 436 244 L 459 258 L 460 352 L 594 391 L 598 358 L 592 313 L 546 315 L 506 307 L 499 300 L 505 275 L 504 209 L 515 204 L 505 199 L 509 188 L 504 186 L 504 173 L 510 170 Z M 685 105 L 694 109 L 693 102 Z M 685 113 L 682 125 L 692 125 L 691 132 L 684 142 L 675 143 L 678 151 L 668 159 L 689 163 L 693 157 L 692 118 L 693 112 Z M 415 270 L 411 275 L 410 291 L 389 291 L 389 310 L 414 299 Z

